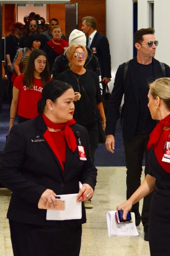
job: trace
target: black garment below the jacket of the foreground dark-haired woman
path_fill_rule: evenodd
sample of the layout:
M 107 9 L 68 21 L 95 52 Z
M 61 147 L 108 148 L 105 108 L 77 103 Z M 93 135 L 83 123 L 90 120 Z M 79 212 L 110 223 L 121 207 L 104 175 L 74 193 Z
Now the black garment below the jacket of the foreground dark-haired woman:
M 79 256 L 82 225 L 40 226 L 9 220 L 14 256 Z

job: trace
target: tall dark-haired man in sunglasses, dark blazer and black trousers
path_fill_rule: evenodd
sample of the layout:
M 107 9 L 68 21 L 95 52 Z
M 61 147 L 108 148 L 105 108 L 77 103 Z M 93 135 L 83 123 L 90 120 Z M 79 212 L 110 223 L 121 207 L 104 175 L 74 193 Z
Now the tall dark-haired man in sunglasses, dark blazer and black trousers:
M 156 52 L 156 41 L 154 29 L 146 28 L 138 30 L 134 35 L 134 43 L 137 56 L 129 61 L 125 73 L 125 64 L 119 66 L 111 99 L 108 104 L 106 118 L 106 148 L 114 153 L 117 116 L 124 94 L 124 104 L 121 111 L 123 145 L 125 162 L 127 168 L 126 197 L 131 195 L 140 186 L 142 172 L 142 160 L 145 153 L 145 175 L 149 172 L 147 144 L 149 134 L 156 125 L 156 120 L 151 118 L 148 108 L 148 84 L 160 77 L 170 77 L 170 67 L 154 58 Z M 156 107 L 156 106 L 155 106 Z M 149 208 L 152 194 L 143 199 L 142 214 L 140 217 L 139 203 L 132 207 L 135 213 L 136 226 L 142 221 L 144 227 L 144 240 L 148 241 Z

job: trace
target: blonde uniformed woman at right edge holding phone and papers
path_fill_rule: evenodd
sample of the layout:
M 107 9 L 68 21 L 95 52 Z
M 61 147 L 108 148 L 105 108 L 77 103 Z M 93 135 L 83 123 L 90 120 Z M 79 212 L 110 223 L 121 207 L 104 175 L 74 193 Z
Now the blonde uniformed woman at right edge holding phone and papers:
M 170 255 L 170 78 L 159 78 L 149 85 L 148 107 L 152 119 L 159 120 L 148 142 L 150 172 L 141 186 L 124 203 L 117 206 L 126 219 L 132 205 L 153 191 L 149 215 L 151 256 Z

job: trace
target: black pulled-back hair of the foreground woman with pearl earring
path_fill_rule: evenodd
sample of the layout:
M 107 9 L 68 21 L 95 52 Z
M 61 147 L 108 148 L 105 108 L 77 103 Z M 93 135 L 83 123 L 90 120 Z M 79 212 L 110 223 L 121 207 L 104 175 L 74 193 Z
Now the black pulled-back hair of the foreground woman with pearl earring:
M 38 101 L 38 113 L 44 111 L 47 99 L 51 99 L 55 103 L 57 98 L 68 89 L 72 89 L 72 86 L 66 82 L 59 80 L 48 82 L 43 88 L 41 99 Z

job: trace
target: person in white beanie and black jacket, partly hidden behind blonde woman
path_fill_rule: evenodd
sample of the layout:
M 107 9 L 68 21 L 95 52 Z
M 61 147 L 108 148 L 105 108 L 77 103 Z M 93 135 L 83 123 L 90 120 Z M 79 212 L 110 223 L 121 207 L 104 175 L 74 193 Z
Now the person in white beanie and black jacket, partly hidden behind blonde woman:
M 70 33 L 70 36 L 69 36 L 69 45 L 71 45 L 73 43 L 86 46 L 85 34 L 78 29 L 74 29 Z M 92 51 L 88 47 L 86 47 L 86 50 L 87 50 L 87 59 L 86 59 L 84 68 L 94 71 L 99 76 L 100 89 L 101 89 L 101 94 L 102 94 L 103 87 L 102 87 L 102 83 L 101 83 L 101 71 L 100 71 L 98 58 L 92 54 Z M 69 61 L 67 59 L 66 53 L 63 53 L 60 56 L 56 57 L 53 68 L 52 68 L 52 78 L 54 80 L 56 80 L 56 77 L 60 73 L 69 69 L 68 63 L 69 63 Z

